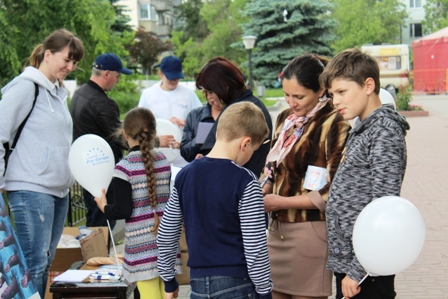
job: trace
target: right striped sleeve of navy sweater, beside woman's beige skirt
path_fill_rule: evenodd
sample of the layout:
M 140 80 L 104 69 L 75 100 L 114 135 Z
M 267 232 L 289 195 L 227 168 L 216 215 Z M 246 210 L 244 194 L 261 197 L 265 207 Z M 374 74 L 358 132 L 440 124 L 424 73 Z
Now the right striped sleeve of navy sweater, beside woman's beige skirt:
M 269 298 L 273 284 L 270 279 L 263 195 L 258 181 L 252 180 L 246 186 L 238 213 L 249 277 L 257 293 L 262 298 Z

